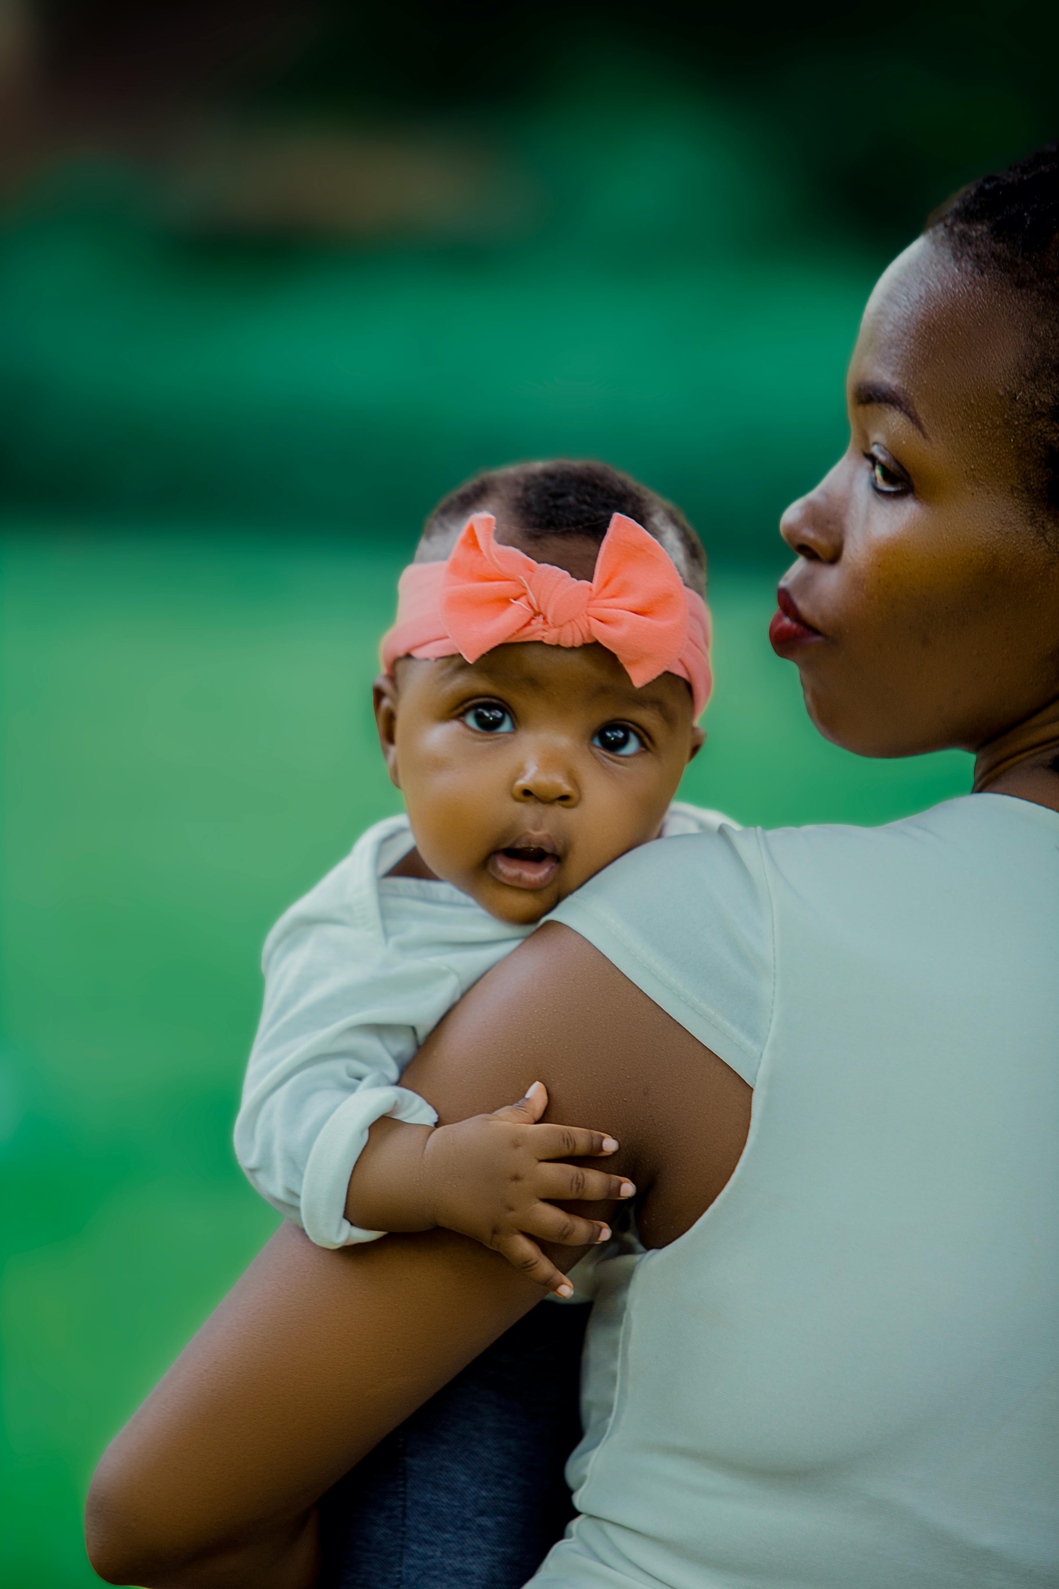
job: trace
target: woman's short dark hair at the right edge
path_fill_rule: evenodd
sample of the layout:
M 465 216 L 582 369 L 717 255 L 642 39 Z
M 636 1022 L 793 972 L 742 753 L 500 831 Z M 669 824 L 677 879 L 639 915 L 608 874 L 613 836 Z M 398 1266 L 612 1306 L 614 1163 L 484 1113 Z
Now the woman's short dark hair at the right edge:
M 1059 143 L 961 189 L 927 218 L 924 235 L 1022 297 L 1032 315 L 1011 408 L 1026 493 L 1059 548 Z

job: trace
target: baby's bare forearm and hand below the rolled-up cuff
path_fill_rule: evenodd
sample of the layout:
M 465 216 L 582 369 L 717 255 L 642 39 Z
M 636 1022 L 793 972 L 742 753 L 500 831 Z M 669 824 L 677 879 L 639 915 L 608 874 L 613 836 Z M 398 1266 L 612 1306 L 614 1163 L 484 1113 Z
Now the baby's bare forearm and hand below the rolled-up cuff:
M 546 1108 L 548 1092 L 533 1082 L 519 1103 L 456 1125 L 379 1120 L 349 1179 L 346 1219 L 394 1231 L 456 1230 L 570 1297 L 567 1276 L 537 1241 L 583 1247 L 607 1241 L 610 1227 L 554 1204 L 622 1200 L 637 1189 L 626 1176 L 562 1163 L 608 1157 L 619 1144 L 603 1131 L 538 1125 Z

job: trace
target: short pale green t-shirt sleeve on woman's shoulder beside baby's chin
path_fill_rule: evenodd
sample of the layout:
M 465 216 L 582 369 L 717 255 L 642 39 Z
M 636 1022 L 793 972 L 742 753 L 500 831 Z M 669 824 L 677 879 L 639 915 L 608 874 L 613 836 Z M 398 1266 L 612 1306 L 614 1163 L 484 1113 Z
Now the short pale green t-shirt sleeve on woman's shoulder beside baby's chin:
M 645 844 L 564 899 L 549 920 L 586 938 L 754 1085 L 775 982 L 759 829 Z

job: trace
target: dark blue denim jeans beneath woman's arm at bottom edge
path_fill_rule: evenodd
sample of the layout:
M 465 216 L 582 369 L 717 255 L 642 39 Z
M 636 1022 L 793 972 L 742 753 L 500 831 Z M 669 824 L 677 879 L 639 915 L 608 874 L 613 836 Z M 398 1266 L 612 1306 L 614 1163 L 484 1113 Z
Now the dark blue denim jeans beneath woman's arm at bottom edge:
M 587 1306 L 541 1303 L 321 1502 L 319 1589 L 521 1589 L 573 1516 Z

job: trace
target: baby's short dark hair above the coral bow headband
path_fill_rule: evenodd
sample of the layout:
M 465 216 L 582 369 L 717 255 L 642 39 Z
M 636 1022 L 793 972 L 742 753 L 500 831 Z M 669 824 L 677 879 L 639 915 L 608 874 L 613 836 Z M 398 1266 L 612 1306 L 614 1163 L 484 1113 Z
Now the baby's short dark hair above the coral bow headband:
M 446 556 L 470 515 L 484 507 L 502 513 L 530 548 L 545 535 L 584 535 L 599 547 L 611 515 L 624 513 L 668 551 L 684 585 L 705 596 L 707 555 L 681 510 L 621 470 L 592 459 L 553 458 L 475 475 L 433 508 L 416 561 Z

